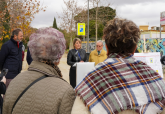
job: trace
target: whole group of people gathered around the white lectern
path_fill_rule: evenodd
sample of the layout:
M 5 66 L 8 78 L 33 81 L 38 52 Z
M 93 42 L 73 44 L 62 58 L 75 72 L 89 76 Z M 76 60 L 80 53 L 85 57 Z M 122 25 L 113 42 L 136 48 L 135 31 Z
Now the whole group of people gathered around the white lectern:
M 40 28 L 28 42 L 27 71 L 21 72 L 23 32 L 15 29 L 0 51 L 0 113 L 3 114 L 165 114 L 165 82 L 147 64 L 134 58 L 140 30 L 127 19 L 110 20 L 103 42 L 89 59 L 75 38 L 69 50 L 70 84 L 58 64 L 66 49 L 64 35 L 54 28 Z M 95 62 L 92 71 L 76 83 L 76 63 Z M 83 69 L 82 69 L 83 70 Z

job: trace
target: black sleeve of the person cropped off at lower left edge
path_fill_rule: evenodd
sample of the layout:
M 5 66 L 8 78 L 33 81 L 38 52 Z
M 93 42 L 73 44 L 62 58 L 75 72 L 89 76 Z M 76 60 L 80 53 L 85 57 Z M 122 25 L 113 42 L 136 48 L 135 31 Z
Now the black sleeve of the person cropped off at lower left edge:
M 3 82 L 0 82 L 0 114 L 2 114 L 2 107 L 3 107 L 3 98 L 1 94 L 5 94 L 6 92 L 6 85 Z

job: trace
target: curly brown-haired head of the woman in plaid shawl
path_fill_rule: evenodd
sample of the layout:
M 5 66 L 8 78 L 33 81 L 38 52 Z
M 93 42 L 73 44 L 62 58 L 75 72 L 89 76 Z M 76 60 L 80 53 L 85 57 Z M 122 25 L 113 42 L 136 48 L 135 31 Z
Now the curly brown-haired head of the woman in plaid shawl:
M 129 55 L 136 49 L 140 39 L 140 30 L 130 20 L 115 18 L 104 28 L 104 39 L 108 55 L 111 53 Z

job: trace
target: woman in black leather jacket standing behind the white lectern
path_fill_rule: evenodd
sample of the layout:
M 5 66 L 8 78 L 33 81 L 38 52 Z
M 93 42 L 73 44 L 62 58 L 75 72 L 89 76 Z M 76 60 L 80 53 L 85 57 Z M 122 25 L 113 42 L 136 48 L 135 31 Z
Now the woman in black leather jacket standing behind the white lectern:
M 73 40 L 74 49 L 69 50 L 67 56 L 67 64 L 70 65 L 69 79 L 70 85 L 75 88 L 76 87 L 76 66 L 75 63 L 78 62 L 86 62 L 87 56 L 86 51 L 81 49 L 81 40 L 79 38 L 75 38 Z

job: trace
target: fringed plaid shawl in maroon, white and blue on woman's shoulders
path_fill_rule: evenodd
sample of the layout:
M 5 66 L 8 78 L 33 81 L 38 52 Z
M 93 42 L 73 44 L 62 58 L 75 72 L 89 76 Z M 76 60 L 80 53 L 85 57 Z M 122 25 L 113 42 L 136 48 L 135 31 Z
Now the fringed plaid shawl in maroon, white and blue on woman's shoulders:
M 128 109 L 156 114 L 165 105 L 163 79 L 133 55 L 110 54 L 75 91 L 92 114 L 117 114 Z

